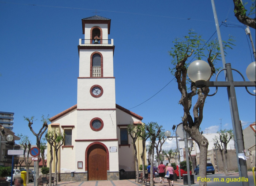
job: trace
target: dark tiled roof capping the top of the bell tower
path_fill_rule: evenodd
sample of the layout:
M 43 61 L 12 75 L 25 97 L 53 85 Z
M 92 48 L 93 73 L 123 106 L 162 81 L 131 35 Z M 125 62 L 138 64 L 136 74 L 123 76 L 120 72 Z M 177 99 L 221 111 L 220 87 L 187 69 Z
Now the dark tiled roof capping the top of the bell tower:
M 83 34 L 84 34 L 84 25 L 85 24 L 108 24 L 108 34 L 110 33 L 110 22 L 111 19 L 104 18 L 102 16 L 91 16 L 88 18 L 83 18 L 82 19 L 82 28 L 83 28 Z

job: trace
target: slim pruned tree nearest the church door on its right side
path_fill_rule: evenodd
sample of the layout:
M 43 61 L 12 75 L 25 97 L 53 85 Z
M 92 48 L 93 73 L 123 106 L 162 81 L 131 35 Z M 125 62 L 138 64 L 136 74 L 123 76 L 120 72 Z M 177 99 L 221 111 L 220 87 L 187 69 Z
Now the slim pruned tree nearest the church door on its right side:
M 136 166 L 136 177 L 139 177 L 139 163 L 138 163 L 138 158 L 137 158 L 137 147 L 136 147 L 136 141 L 139 137 L 139 134 L 142 132 L 141 128 L 138 127 L 138 125 L 133 125 L 133 123 L 129 124 L 127 126 L 127 131 L 129 135 L 132 138 L 132 144 L 134 148 L 134 158 L 135 158 L 135 166 Z

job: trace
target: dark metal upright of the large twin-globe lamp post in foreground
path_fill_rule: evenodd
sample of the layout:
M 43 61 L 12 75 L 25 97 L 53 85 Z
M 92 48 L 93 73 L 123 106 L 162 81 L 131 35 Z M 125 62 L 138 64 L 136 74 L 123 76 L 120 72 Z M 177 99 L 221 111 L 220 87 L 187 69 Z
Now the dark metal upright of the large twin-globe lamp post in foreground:
M 231 70 L 231 64 L 227 63 L 225 65 L 226 67 L 226 73 L 227 73 L 227 81 L 230 82 L 230 87 L 228 87 L 229 90 L 229 96 L 230 96 L 230 102 L 231 102 L 231 109 L 233 113 L 233 120 L 234 120 L 234 128 L 233 131 L 236 133 L 236 142 L 237 142 L 237 157 L 239 159 L 238 164 L 241 169 L 241 177 L 242 178 L 247 178 L 247 166 L 246 166 L 246 160 L 242 158 L 242 155 L 244 155 L 244 139 L 242 136 L 242 130 L 240 126 L 240 119 L 239 119 L 239 114 L 238 114 L 238 107 L 237 107 L 237 99 L 236 99 L 236 91 L 234 87 L 234 82 L 233 82 L 233 74 Z M 243 186 L 249 186 L 249 182 L 242 182 Z

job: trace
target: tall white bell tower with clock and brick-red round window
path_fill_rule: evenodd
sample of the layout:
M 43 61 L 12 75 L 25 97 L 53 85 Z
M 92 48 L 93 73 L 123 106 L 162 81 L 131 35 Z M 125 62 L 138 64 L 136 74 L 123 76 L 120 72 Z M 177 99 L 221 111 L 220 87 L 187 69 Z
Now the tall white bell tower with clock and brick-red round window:
M 113 71 L 114 45 L 113 39 L 108 39 L 110 22 L 111 19 L 97 15 L 82 19 L 84 39 L 79 39 L 78 45 L 76 160 L 81 161 L 79 154 L 84 146 L 88 147 L 88 153 L 94 148 L 103 149 L 107 153 L 106 172 L 118 171 L 118 163 L 110 163 L 110 159 L 118 159 L 118 153 L 109 154 L 108 149 L 118 146 Z M 91 177 L 95 173 L 90 170 L 90 155 L 86 154 L 85 158 L 88 180 L 106 179 Z

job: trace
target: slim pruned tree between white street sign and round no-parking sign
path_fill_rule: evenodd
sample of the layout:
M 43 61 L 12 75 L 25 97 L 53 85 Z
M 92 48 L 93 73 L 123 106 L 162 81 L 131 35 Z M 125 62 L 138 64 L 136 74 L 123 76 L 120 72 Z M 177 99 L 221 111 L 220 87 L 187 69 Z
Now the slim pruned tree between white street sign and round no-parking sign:
M 29 161 L 29 152 L 31 149 L 31 142 L 29 140 L 29 136 L 27 135 L 22 135 L 22 134 L 18 134 L 18 137 L 20 138 L 19 144 L 20 146 L 23 147 L 24 151 L 27 151 L 27 156 L 26 153 L 23 154 L 23 162 L 25 162 L 26 165 L 26 170 L 29 170 L 29 166 L 31 164 L 31 160 Z M 27 175 L 26 177 L 29 177 L 29 171 L 27 171 Z M 26 184 L 29 184 L 29 179 L 27 179 Z

